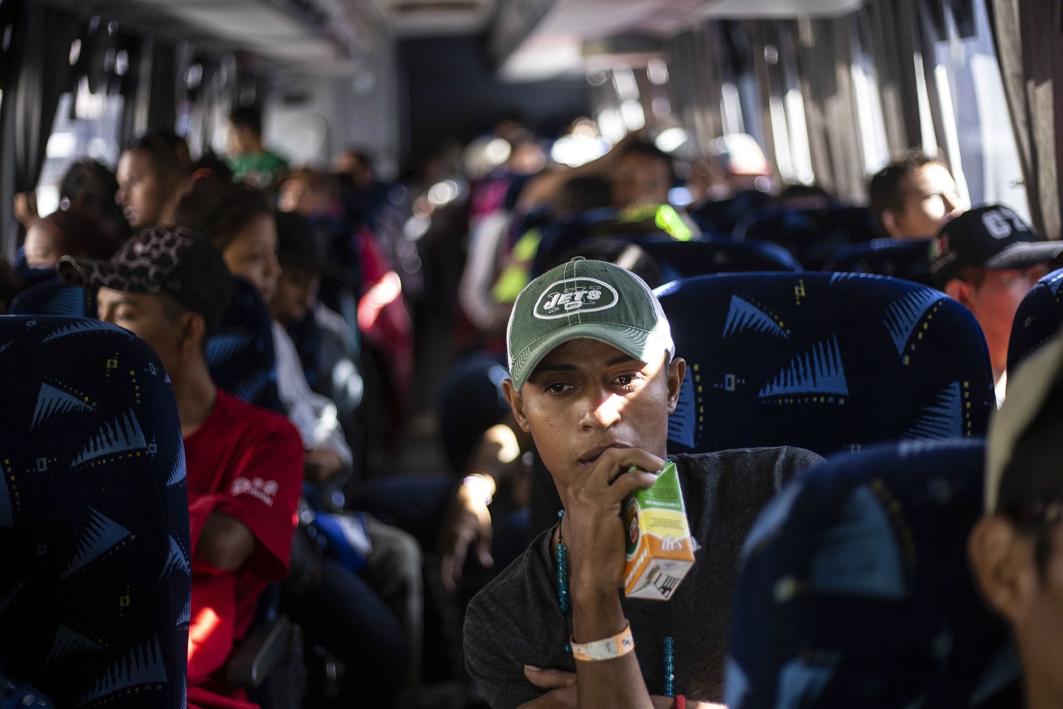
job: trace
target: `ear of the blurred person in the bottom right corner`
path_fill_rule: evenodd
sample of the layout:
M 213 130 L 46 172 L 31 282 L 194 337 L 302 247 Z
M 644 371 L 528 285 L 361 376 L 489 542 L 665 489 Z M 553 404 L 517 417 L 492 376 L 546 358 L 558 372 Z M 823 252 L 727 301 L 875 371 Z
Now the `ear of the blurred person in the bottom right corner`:
M 1012 625 L 1018 622 L 1040 583 L 1032 542 L 1003 517 L 989 514 L 967 538 L 967 559 L 986 603 Z

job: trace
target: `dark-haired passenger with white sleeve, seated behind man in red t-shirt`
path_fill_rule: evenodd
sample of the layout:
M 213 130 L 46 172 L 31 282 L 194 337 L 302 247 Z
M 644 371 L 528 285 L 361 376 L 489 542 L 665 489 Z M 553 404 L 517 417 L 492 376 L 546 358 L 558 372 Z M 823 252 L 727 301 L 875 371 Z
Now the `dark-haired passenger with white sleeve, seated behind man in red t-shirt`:
M 213 178 L 192 184 L 176 212 L 176 222 L 205 235 L 233 275 L 254 285 L 269 303 L 276 292 L 276 224 L 265 197 L 246 185 Z M 336 406 L 310 391 L 291 337 L 273 322 L 277 393 L 306 443 L 306 479 L 330 480 L 352 463 L 351 449 L 336 418 Z

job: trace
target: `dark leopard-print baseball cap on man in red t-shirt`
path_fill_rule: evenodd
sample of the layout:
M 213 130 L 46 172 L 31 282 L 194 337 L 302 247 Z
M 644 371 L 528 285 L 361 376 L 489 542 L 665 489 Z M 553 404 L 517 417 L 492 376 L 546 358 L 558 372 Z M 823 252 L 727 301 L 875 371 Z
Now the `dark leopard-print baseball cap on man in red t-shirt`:
M 80 286 L 170 296 L 203 316 L 210 333 L 218 332 L 236 288 L 221 253 L 183 226 L 141 230 L 111 260 L 64 256 L 58 274 Z

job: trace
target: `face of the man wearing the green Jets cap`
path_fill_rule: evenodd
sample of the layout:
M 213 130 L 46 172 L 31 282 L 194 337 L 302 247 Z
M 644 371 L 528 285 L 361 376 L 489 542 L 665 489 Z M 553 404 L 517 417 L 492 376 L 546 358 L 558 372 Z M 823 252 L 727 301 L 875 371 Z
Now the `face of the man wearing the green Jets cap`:
M 664 457 L 668 417 L 675 409 L 686 362 L 634 359 L 588 338 L 559 345 L 539 362 L 520 394 L 506 383 L 518 423 L 535 438 L 546 469 L 564 488 L 609 448 L 638 448 Z

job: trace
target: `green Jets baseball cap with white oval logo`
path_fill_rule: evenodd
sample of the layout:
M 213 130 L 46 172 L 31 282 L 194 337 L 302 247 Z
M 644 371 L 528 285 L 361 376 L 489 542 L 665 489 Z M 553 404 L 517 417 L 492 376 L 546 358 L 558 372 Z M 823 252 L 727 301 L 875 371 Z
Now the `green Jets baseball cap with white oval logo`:
M 588 337 L 639 361 L 675 354 L 672 328 L 642 278 L 583 256 L 529 283 L 513 303 L 506 331 L 509 374 L 520 390 L 554 348 Z

